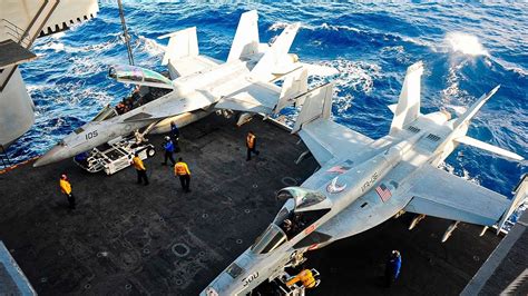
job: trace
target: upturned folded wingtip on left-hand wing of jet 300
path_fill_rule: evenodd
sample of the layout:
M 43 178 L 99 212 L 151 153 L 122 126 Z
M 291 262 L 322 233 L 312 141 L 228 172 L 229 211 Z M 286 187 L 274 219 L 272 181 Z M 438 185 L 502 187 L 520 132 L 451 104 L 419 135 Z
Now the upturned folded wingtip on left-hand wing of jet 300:
M 333 85 L 330 82 L 314 88 L 306 93 L 306 99 L 297 116 L 292 134 L 301 130 L 304 124 L 309 124 L 317 118 L 330 119 L 332 112 L 332 90 Z

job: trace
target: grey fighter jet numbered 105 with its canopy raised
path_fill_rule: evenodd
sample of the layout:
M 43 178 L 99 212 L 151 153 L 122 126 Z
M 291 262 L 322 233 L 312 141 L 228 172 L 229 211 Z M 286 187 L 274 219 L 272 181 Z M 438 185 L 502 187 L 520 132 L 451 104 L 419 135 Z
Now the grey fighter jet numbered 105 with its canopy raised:
M 157 92 L 165 89 L 166 95 L 155 99 L 138 90 L 135 97 L 139 102 L 123 102 L 131 110 L 104 109 L 35 166 L 72 157 L 147 126 L 151 132 L 166 132 L 172 121 L 182 127 L 214 109 L 278 112 L 306 92 L 307 75 L 334 73 L 333 68 L 302 63 L 296 55 L 287 53 L 299 23 L 287 26 L 268 46 L 260 43 L 257 19 L 256 10 L 242 14 L 226 62 L 199 55 L 195 27 L 160 37 L 169 38 L 162 63 L 174 80 L 139 67 L 111 67 L 109 76 L 117 81 L 156 88 Z M 282 88 L 273 83 L 281 79 Z

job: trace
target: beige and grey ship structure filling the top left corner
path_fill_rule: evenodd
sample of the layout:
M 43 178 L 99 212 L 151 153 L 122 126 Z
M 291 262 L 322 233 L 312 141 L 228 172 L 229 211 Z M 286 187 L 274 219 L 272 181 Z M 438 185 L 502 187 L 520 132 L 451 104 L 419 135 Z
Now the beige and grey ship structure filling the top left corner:
M 35 122 L 35 106 L 18 69 L 36 57 L 29 51 L 33 41 L 91 19 L 98 11 L 96 0 L 1 1 L 0 43 L 12 40 L 18 50 L 0 45 L 4 55 L 0 65 L 0 146 L 7 148 Z

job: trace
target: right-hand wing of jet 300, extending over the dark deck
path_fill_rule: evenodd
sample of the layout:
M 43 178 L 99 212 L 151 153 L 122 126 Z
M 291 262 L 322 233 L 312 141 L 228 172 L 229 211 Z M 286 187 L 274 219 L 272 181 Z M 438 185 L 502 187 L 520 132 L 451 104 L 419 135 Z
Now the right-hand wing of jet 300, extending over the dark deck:
M 507 197 L 432 166 L 411 178 L 405 211 L 491 226 L 508 209 Z

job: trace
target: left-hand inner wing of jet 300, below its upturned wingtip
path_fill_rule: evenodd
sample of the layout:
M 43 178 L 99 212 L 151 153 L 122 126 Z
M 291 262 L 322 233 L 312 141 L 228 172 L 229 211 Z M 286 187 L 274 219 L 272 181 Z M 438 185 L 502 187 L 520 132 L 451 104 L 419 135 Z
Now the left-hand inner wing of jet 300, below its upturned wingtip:
M 359 155 L 374 140 L 332 120 L 319 118 L 299 131 L 317 162 L 323 166 L 334 157 Z

